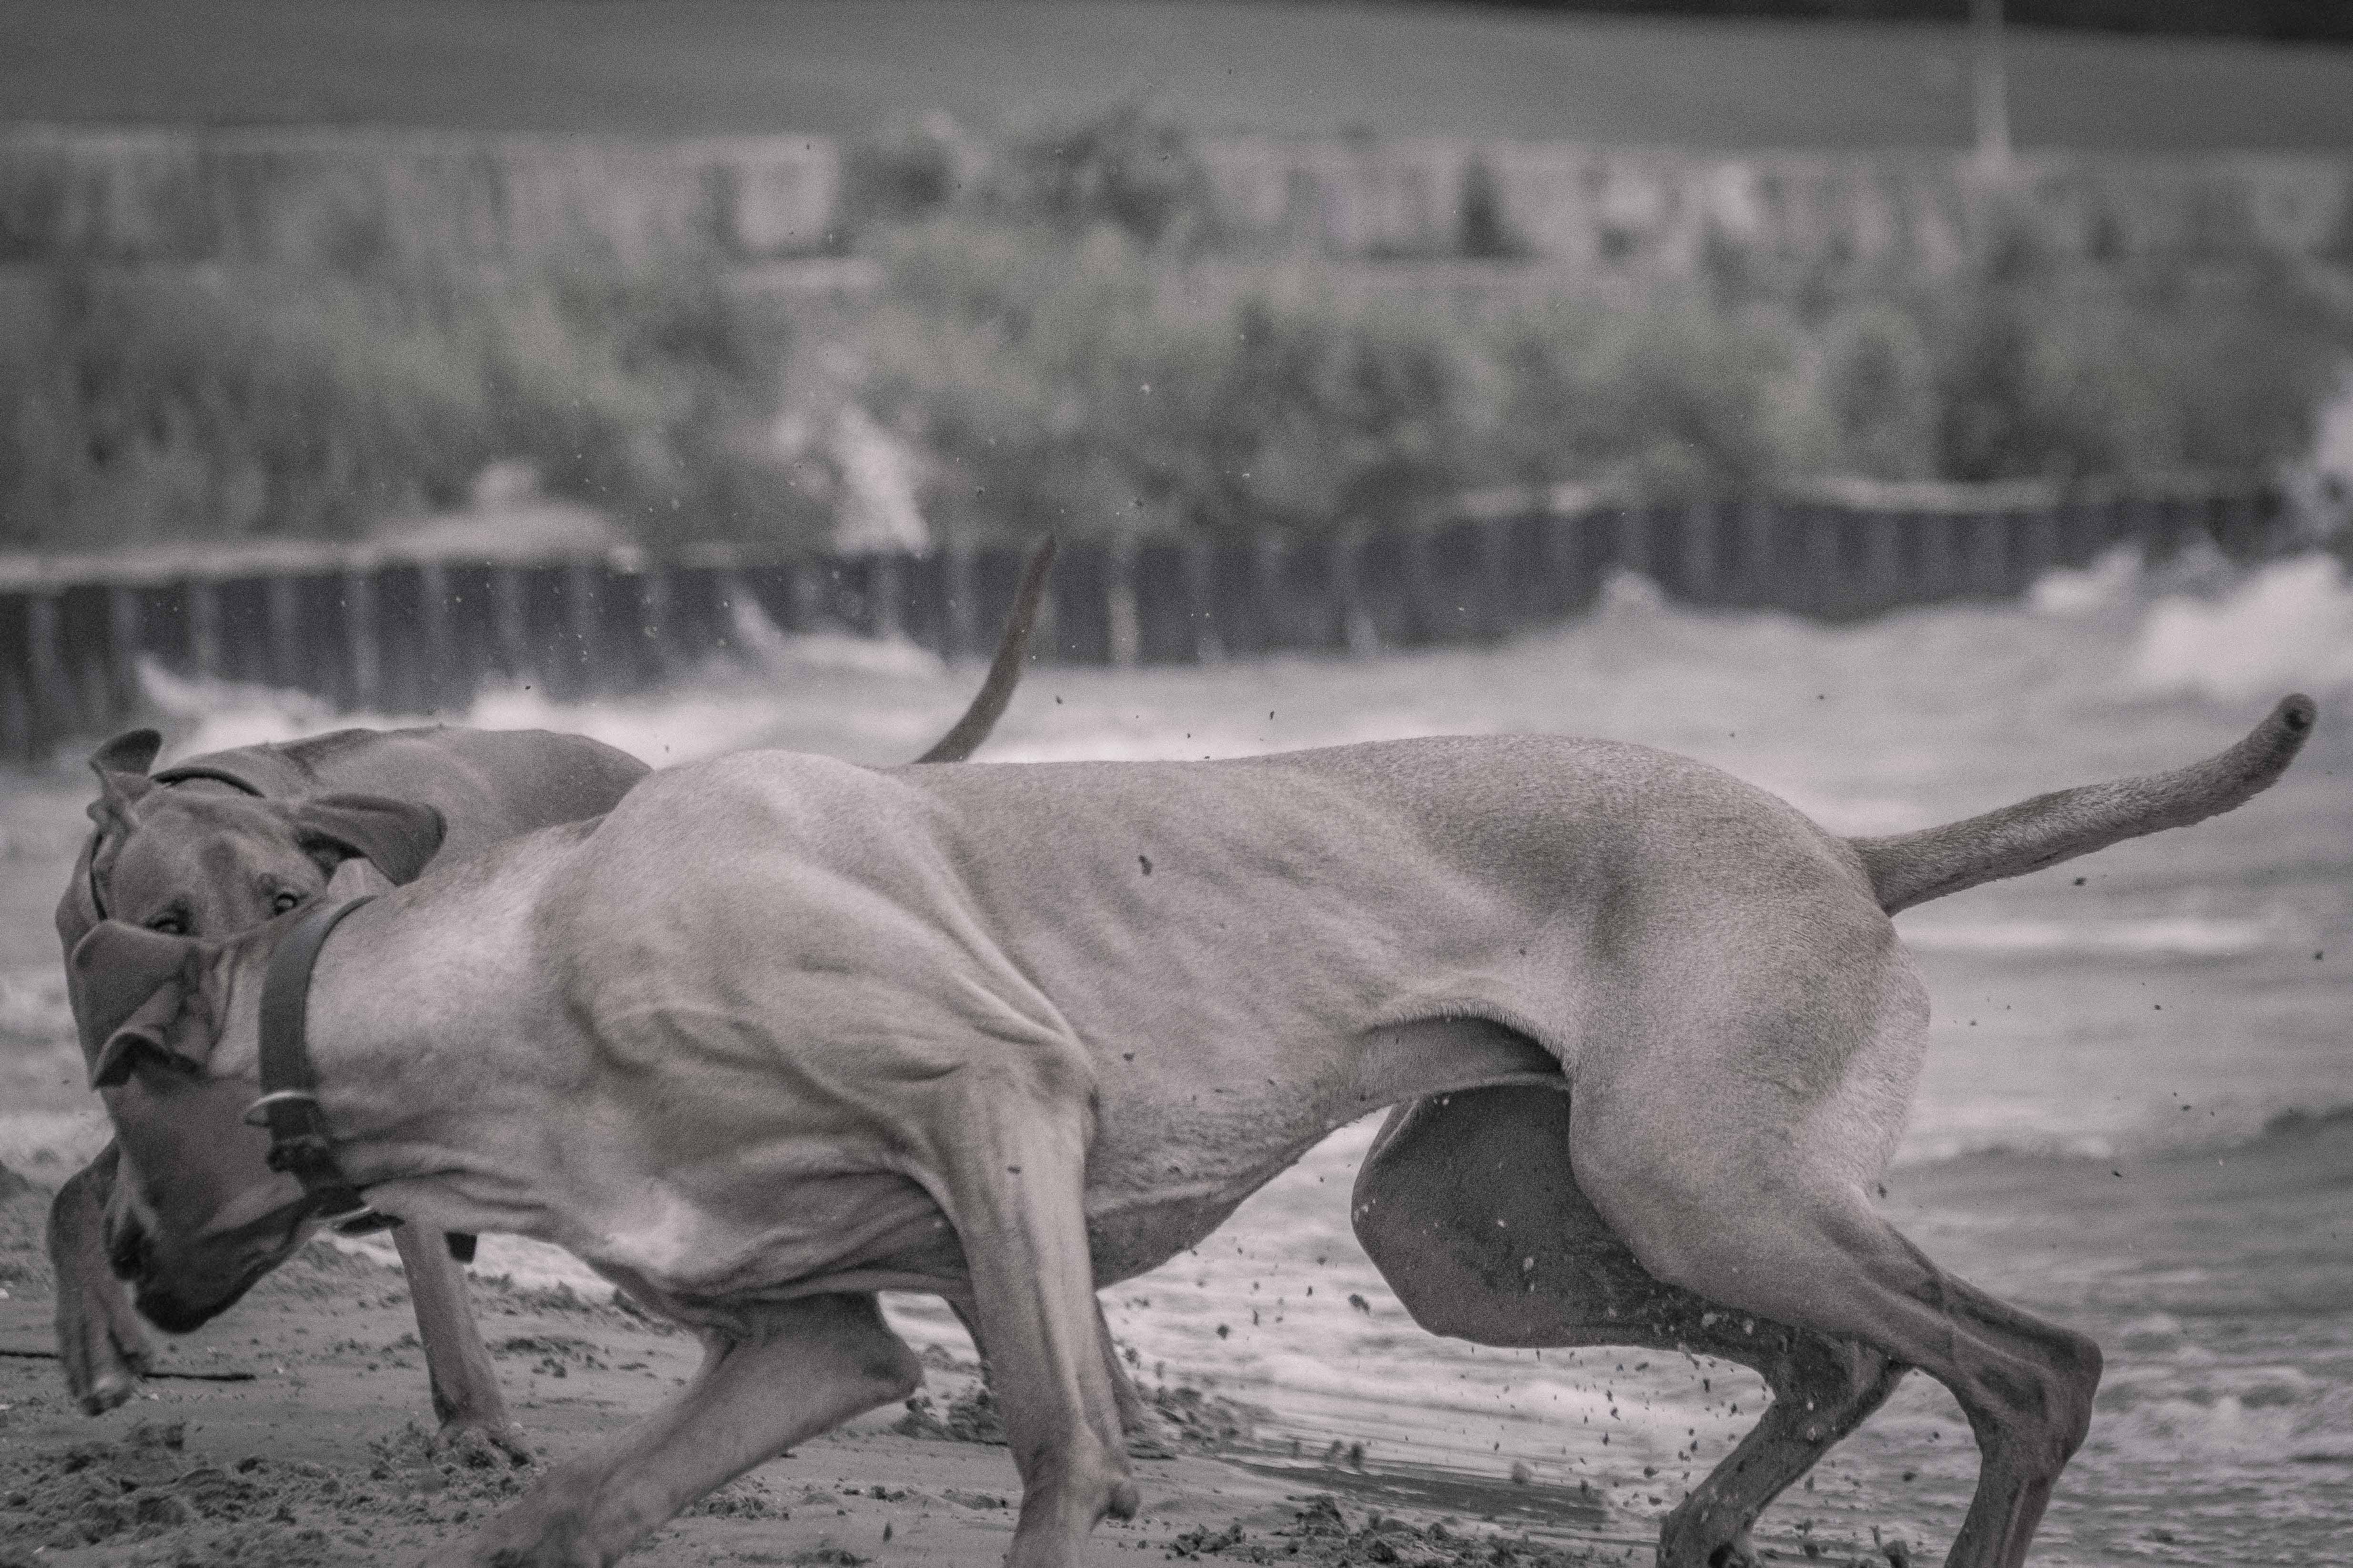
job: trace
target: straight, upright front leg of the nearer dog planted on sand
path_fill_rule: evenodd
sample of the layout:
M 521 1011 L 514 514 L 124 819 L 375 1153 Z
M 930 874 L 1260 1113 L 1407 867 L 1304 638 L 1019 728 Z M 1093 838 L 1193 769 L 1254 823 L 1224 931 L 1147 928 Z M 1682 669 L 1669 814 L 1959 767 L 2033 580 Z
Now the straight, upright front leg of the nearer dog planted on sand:
M 1087 1258 L 1087 1117 L 1075 1105 L 969 1105 L 946 1140 L 948 1192 L 1021 1472 L 1007 1568 L 1068 1568 L 1087 1530 L 1136 1512 Z

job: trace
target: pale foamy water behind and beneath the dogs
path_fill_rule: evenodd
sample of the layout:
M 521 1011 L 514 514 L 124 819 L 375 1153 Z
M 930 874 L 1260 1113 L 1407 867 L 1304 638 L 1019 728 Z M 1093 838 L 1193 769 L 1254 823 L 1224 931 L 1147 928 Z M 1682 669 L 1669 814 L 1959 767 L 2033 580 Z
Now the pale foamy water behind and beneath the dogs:
M 741 745 L 885 762 L 922 750 L 972 679 L 845 639 L 779 639 L 772 656 L 762 679 L 713 675 L 659 701 L 501 691 L 438 717 L 588 731 L 656 764 Z M 2353 583 L 2334 559 L 2235 574 L 2120 555 L 2021 604 L 1861 628 L 1692 614 L 1621 578 L 1574 625 L 1489 651 L 1035 670 L 984 757 L 1595 733 L 1715 762 L 1835 830 L 1892 832 L 2191 762 L 2289 689 L 2322 701 L 2320 729 L 2238 813 L 1899 917 L 1934 1025 L 1885 1206 L 1953 1272 L 2108 1352 L 2038 1561 L 2344 1563 Z M 329 722 L 280 693 L 155 696 L 179 715 L 179 752 Z M 59 1006 L 42 973 L 0 976 L 0 1048 L 56 1048 Z M 1687 1356 L 1499 1352 L 1414 1328 L 1346 1222 L 1374 1126 L 1339 1131 L 1198 1253 L 1106 1291 L 1115 1335 L 1146 1378 L 1261 1406 L 1268 1462 L 1494 1481 L 1497 1509 L 1600 1500 L 1609 1535 L 1649 1540 L 1762 1387 Z M 45 1103 L 0 1124 L 0 1157 L 89 1138 L 82 1107 Z M 494 1239 L 480 1267 L 576 1272 Z M 892 1309 L 915 1342 L 962 1345 L 932 1302 Z M 1878 1530 L 1941 1554 L 1972 1479 L 1958 1408 L 1913 1378 L 1762 1540 L 1838 1559 Z

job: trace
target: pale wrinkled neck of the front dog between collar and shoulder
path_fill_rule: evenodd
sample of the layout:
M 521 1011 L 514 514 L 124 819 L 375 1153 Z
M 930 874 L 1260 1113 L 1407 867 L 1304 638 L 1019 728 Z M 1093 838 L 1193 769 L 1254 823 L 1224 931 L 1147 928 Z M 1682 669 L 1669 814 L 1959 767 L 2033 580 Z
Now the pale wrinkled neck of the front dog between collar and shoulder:
M 544 1145 L 588 1048 L 532 940 L 536 896 L 569 844 L 562 830 L 532 835 L 386 893 L 320 950 L 311 1063 L 336 1159 L 376 1211 L 555 1239 L 560 1166 Z M 259 1051 L 242 1070 L 259 1077 Z

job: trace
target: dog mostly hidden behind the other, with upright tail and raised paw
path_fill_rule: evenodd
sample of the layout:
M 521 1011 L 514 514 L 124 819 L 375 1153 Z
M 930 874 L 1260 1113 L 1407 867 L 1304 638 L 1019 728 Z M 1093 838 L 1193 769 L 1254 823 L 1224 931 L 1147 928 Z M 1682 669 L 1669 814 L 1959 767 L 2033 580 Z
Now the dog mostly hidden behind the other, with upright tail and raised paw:
M 988 738 L 1021 682 L 1052 559 L 1052 543 L 1033 552 L 979 693 L 920 762 L 962 762 Z M 536 827 L 602 816 L 647 773 L 626 752 L 548 731 L 348 729 L 214 752 L 151 776 L 160 745 L 153 729 L 136 729 L 89 759 L 99 776 L 99 799 L 89 806 L 96 827 L 56 905 L 56 933 L 68 954 L 108 917 L 221 938 L 301 907 L 325 891 L 339 860 L 360 844 L 381 844 L 379 835 L 395 820 L 384 813 L 381 797 L 438 811 L 445 830 L 438 851 L 466 858 Z M 393 870 L 414 875 L 416 867 Z M 68 973 L 68 999 L 75 1020 L 87 1020 L 82 976 Z M 49 1206 L 59 1356 L 66 1385 L 89 1415 L 129 1399 L 148 1359 L 104 1244 L 115 1171 L 108 1145 Z M 202 1194 L 153 1194 L 153 1201 L 202 1204 Z M 273 1215 L 254 1218 L 264 1232 L 275 1229 Z M 393 1241 L 409 1279 L 442 1432 L 480 1434 L 525 1458 L 449 1244 L 426 1227 L 400 1227 Z M 459 1248 L 471 1251 L 471 1239 Z M 136 1258 L 120 1262 L 139 1265 Z

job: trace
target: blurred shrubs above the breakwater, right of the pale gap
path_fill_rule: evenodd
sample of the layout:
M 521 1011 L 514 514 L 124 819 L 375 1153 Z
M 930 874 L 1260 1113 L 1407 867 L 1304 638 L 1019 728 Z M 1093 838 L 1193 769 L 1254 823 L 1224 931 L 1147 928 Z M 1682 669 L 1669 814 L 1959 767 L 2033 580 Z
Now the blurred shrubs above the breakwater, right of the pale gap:
M 2122 280 L 2017 244 L 1939 280 L 1720 254 L 1471 324 L 1280 268 L 1205 303 L 1111 223 L 941 219 L 878 254 L 866 395 L 967 534 L 1379 524 L 1494 482 L 2247 473 L 2304 449 L 2353 341 L 2287 270 Z

